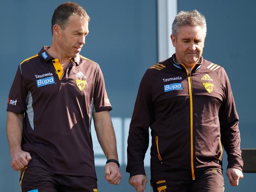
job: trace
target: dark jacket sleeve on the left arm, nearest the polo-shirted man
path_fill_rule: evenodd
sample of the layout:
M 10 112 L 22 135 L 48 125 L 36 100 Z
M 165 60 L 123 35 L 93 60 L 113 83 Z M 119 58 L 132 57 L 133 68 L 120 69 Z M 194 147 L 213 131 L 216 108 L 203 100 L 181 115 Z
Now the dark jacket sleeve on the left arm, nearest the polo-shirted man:
M 134 112 L 130 123 L 127 147 L 127 168 L 130 176 L 145 174 L 144 158 L 148 148 L 148 129 L 153 120 L 151 92 L 152 87 L 148 79 L 148 73 L 143 76 L 134 106 Z

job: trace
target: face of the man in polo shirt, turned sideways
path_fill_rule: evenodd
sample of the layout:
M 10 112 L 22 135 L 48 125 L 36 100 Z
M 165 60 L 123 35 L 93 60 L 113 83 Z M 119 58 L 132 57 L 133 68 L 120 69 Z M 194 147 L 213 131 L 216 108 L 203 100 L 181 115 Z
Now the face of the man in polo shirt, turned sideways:
M 85 44 L 85 37 L 89 33 L 88 21 L 71 15 L 65 30 L 60 30 L 58 44 L 64 57 L 76 57 Z

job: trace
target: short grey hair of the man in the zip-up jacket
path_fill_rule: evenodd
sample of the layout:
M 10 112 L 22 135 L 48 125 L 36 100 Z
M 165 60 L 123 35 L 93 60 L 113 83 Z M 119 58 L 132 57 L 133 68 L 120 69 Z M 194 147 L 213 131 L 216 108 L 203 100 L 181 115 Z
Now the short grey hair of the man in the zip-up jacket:
M 180 11 L 180 13 L 176 15 L 172 26 L 172 33 L 174 37 L 177 37 L 180 32 L 180 26 L 200 26 L 202 30 L 204 30 L 204 34 L 206 36 L 207 28 L 205 17 L 197 10 Z

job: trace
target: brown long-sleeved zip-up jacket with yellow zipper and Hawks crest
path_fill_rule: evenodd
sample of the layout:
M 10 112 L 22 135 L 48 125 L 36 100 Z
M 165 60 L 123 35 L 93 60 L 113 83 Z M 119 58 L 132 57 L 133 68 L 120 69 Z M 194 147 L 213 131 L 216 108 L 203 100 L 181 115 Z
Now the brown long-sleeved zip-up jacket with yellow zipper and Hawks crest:
M 173 57 L 143 76 L 128 136 L 130 176 L 144 174 L 151 129 L 151 182 L 197 179 L 202 170 L 222 172 L 222 145 L 228 168 L 242 170 L 238 115 L 228 76 L 200 59 L 187 71 Z

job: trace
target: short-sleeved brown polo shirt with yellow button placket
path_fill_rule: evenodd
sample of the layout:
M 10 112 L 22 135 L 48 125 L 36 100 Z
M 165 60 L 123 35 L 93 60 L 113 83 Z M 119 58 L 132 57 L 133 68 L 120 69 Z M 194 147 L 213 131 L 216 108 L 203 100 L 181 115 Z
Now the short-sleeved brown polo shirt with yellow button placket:
M 111 110 L 97 63 L 79 55 L 63 70 L 43 47 L 24 60 L 9 93 L 7 111 L 24 113 L 22 150 L 56 174 L 96 178 L 91 114 Z

